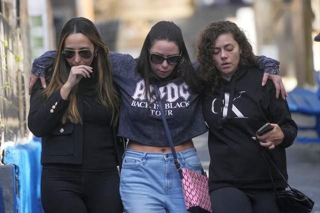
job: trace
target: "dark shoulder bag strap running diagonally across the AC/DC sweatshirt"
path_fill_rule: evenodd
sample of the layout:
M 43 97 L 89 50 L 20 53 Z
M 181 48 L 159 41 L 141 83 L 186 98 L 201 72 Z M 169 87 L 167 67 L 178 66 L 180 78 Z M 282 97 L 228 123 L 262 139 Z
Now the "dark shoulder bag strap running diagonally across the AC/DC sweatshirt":
M 159 110 L 160 110 L 160 112 L 161 112 L 161 118 L 162 118 L 164 130 L 165 130 L 165 132 L 166 132 L 166 135 L 167 135 L 167 138 L 168 138 L 168 141 L 169 141 L 169 144 L 170 144 L 170 148 L 171 148 L 171 151 L 172 151 L 172 154 L 173 154 L 173 157 L 174 157 L 173 163 L 174 163 L 174 165 L 176 166 L 177 171 L 179 172 L 180 178 L 183 179 L 182 168 L 181 168 L 179 159 L 178 159 L 178 157 L 177 157 L 176 150 L 174 149 L 174 144 L 173 144 L 173 141 L 172 141 L 172 136 L 171 136 L 171 133 L 170 133 L 170 129 L 169 129 L 169 126 L 168 126 L 167 119 L 166 119 L 166 117 L 165 117 L 165 113 L 164 113 L 164 110 L 163 110 L 161 98 L 160 98 L 159 91 L 158 91 L 158 87 L 157 87 L 156 84 L 153 85 L 153 90 L 154 90 L 154 93 L 155 93 L 156 98 L 157 98 L 157 102 L 158 102 L 158 105 L 159 105 Z

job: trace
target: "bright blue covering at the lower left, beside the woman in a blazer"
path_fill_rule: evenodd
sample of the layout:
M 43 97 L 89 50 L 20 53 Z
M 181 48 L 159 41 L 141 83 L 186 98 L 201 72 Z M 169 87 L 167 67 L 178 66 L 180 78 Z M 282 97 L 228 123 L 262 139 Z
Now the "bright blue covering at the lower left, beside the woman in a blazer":
M 17 166 L 17 206 L 19 212 L 43 212 L 40 197 L 40 156 L 41 142 L 39 138 L 34 138 L 25 145 L 6 148 L 4 162 Z

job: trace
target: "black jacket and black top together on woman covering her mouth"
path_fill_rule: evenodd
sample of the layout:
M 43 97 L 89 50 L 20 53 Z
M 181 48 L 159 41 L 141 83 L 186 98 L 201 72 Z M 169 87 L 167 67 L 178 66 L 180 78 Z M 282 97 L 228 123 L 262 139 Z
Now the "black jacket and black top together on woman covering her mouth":
M 86 171 L 116 170 L 114 128 L 110 111 L 99 103 L 96 79 L 83 78 L 77 92 L 78 110 L 83 124 L 61 123 L 70 100 L 63 100 L 60 89 L 44 103 L 42 86 L 37 81 L 31 95 L 28 117 L 30 130 L 42 137 L 43 167 Z

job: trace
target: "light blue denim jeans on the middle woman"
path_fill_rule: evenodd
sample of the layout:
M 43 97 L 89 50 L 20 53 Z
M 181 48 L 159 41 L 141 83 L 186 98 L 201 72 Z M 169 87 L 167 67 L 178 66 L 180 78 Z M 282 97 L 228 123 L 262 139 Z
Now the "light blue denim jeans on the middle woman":
M 177 152 L 182 167 L 201 173 L 195 148 Z M 126 149 L 120 178 L 120 195 L 126 213 L 188 212 L 172 153 Z

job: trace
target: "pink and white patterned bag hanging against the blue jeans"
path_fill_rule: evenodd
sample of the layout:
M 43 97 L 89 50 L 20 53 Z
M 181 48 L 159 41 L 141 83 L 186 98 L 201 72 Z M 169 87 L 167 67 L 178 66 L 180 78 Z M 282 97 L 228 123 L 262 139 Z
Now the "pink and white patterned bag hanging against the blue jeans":
M 182 168 L 181 179 L 186 208 L 190 212 L 212 212 L 208 177 L 187 168 Z

